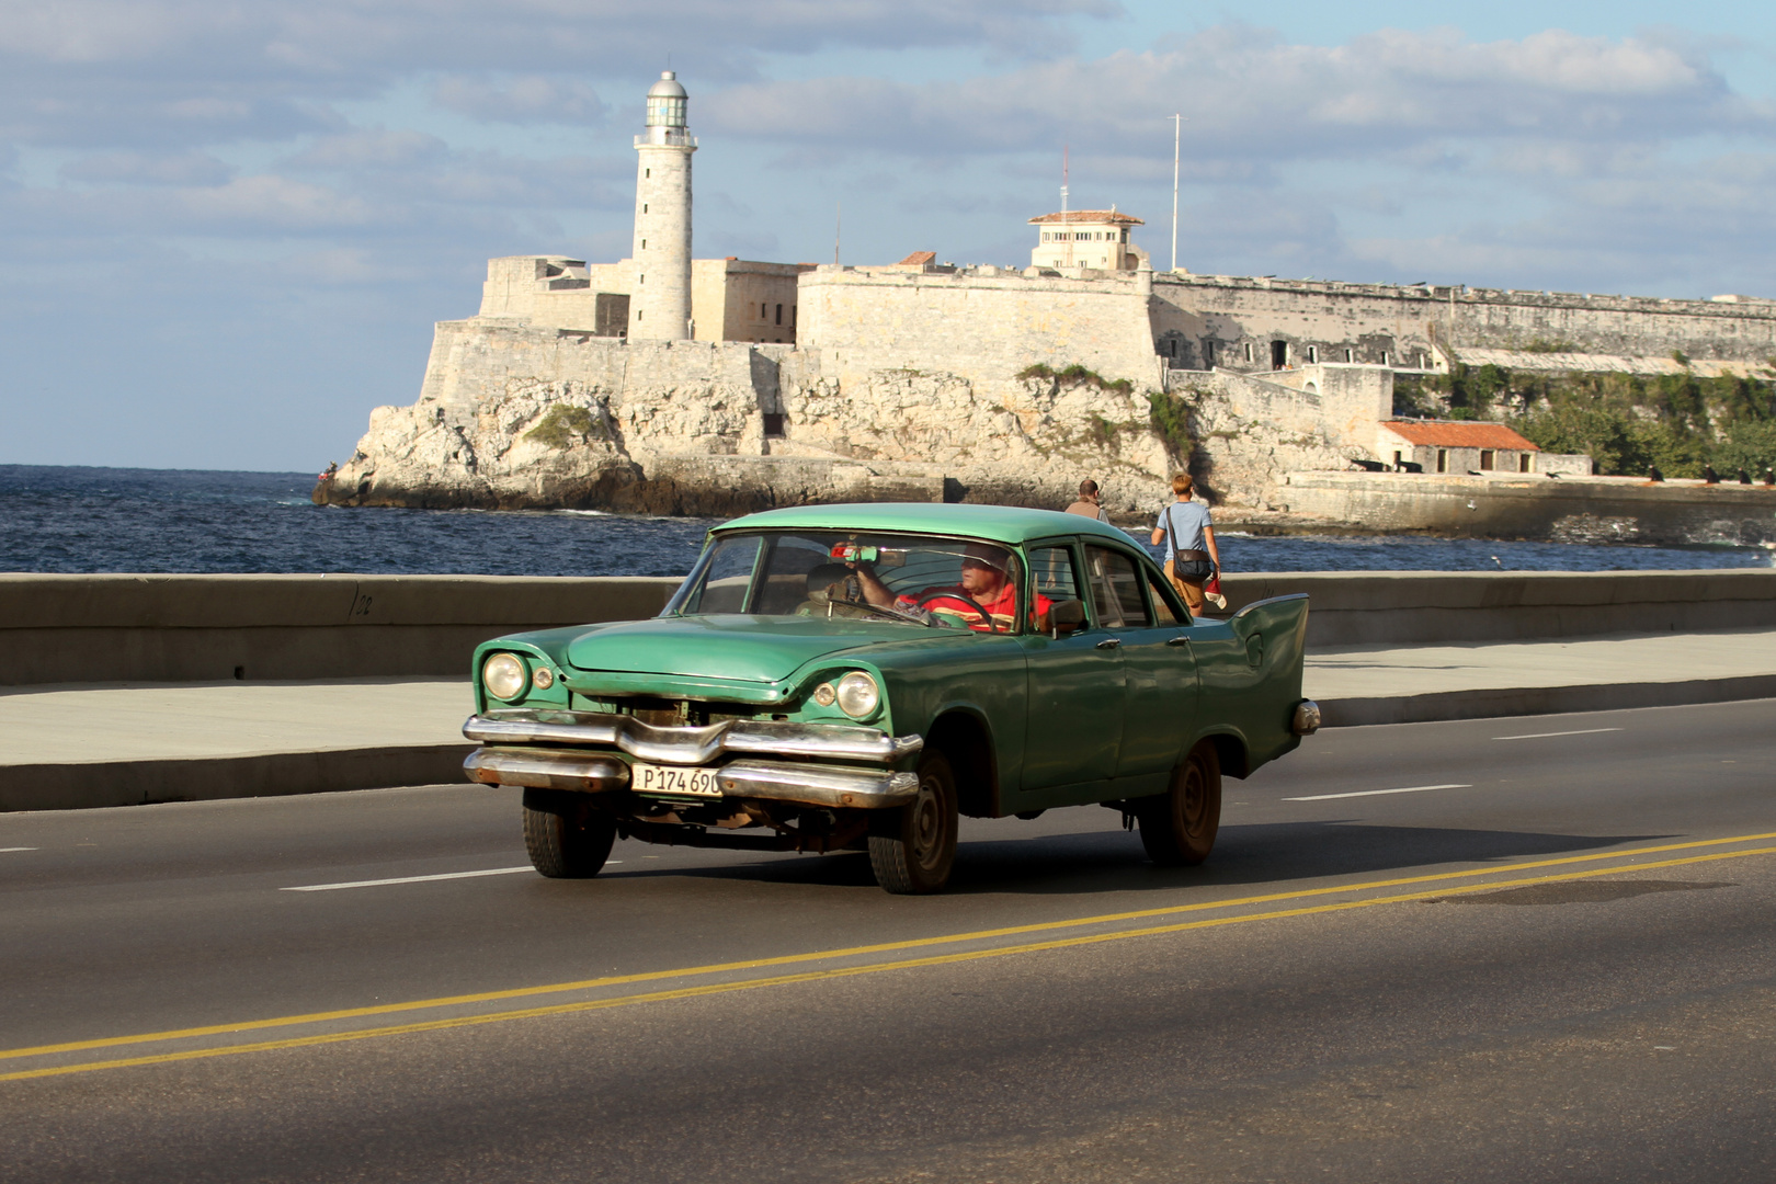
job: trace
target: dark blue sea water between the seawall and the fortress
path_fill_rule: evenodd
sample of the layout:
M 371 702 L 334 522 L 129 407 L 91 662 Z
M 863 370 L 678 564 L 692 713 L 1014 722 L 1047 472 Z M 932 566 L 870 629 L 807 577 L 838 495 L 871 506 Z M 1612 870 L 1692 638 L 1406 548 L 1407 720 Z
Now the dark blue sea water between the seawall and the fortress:
M 314 506 L 300 472 L 0 465 L 0 572 L 682 575 L 719 518 Z M 1147 529 L 1131 529 L 1144 545 Z M 1760 547 L 1218 536 L 1238 572 L 1767 568 Z

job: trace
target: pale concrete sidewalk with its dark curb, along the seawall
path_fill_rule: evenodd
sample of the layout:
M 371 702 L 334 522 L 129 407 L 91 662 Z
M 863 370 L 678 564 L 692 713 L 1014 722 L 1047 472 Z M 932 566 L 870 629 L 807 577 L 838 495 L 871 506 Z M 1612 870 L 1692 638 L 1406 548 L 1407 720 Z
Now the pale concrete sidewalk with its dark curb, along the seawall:
M 1327 726 L 1776 698 L 1776 628 L 1316 646 Z M 462 678 L 0 689 L 0 809 L 455 785 Z M 1309 740 L 1311 744 L 1311 740 Z

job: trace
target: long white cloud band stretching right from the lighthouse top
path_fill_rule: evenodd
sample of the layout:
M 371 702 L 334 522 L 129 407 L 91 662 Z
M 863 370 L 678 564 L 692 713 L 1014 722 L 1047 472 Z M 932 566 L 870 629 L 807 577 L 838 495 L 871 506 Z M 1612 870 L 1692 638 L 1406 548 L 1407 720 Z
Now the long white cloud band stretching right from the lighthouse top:
M 735 85 L 703 103 L 728 135 L 844 142 L 854 151 L 1151 154 L 1181 110 L 1193 160 L 1325 158 L 1414 142 L 1538 137 L 1641 140 L 1776 133 L 1776 110 L 1733 96 L 1680 46 L 1550 30 L 1471 43 L 1384 30 L 1344 46 L 1288 44 L 1243 25 L 1167 51 L 1037 62 L 998 76 L 902 83 L 815 78 Z

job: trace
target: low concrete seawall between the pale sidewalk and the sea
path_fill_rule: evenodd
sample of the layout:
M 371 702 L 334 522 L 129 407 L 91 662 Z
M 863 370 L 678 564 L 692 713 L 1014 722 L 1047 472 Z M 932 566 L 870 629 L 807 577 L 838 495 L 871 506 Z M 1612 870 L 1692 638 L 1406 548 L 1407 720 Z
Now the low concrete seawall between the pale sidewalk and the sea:
M 652 577 L 0 575 L 0 685 L 465 675 L 527 628 L 654 616 Z M 1309 643 L 1529 641 L 1776 625 L 1776 570 L 1229 575 L 1312 596 Z

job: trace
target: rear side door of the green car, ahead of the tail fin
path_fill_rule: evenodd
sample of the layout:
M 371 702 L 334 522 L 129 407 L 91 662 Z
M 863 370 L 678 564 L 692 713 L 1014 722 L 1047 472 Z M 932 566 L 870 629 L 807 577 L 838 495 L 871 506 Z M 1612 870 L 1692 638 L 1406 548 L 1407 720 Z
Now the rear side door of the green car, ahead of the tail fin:
M 1183 754 L 1197 706 L 1197 667 L 1181 607 L 1153 586 L 1147 564 L 1117 547 L 1085 549 L 1092 604 L 1122 655 L 1117 793 L 1160 792 Z

